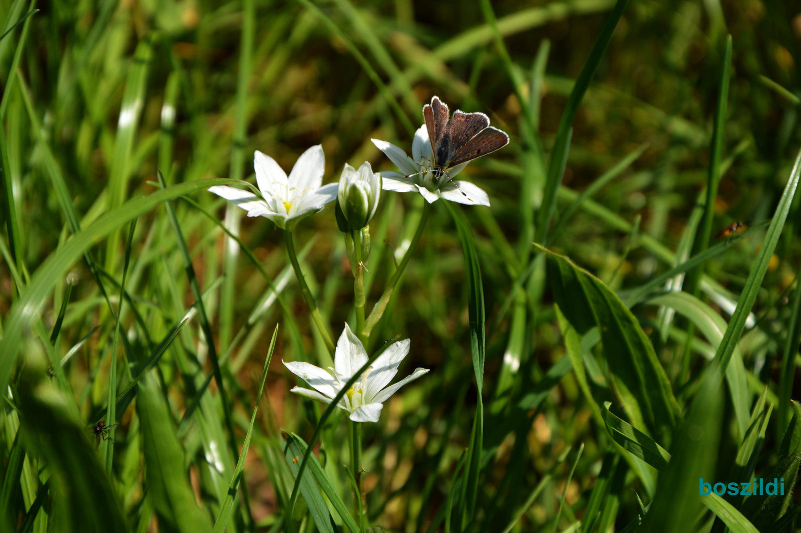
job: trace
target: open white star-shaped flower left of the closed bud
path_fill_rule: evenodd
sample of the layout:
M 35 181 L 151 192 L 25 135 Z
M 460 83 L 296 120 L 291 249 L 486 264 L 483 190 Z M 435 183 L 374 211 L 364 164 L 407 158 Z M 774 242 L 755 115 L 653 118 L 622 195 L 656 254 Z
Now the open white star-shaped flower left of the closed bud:
M 300 155 L 289 177 L 276 159 L 260 151 L 256 151 L 253 166 L 264 200 L 252 192 L 227 185 L 210 187 L 209 192 L 231 200 L 246 210 L 248 216 L 264 216 L 288 231 L 295 228 L 300 219 L 319 212 L 336 199 L 339 184 L 322 185 L 325 155 L 319 144 Z

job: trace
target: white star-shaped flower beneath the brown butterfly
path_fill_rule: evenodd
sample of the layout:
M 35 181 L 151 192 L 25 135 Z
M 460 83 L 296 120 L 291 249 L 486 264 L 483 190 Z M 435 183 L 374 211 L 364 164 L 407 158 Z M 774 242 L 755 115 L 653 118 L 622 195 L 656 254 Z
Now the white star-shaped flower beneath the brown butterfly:
M 400 169 L 400 172 L 381 172 L 381 176 L 384 178 L 384 191 L 418 191 L 425 200 L 429 201 L 429 204 L 433 204 L 442 198 L 458 204 L 489 206 L 489 196 L 487 196 L 484 189 L 469 181 L 453 180 L 467 166 L 467 163 L 449 168 L 448 174 L 441 176 L 439 179 L 434 176 L 433 172 L 431 172 L 433 170 L 431 142 L 429 141 L 429 131 L 425 128 L 425 124 L 414 134 L 414 140 L 412 141 L 413 157 L 406 155 L 405 151 L 394 144 L 379 139 L 371 140 Z

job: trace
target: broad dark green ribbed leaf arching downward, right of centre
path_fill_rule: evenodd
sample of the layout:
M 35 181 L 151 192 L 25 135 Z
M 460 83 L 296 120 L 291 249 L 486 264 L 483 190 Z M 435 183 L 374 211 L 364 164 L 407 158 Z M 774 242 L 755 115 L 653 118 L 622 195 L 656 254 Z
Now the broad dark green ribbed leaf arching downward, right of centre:
M 613 386 L 629 419 L 654 435 L 680 418 L 670 382 L 637 319 L 597 277 L 565 256 L 537 248 L 548 258 L 548 279 L 562 313 L 578 333 L 598 326 L 614 376 Z

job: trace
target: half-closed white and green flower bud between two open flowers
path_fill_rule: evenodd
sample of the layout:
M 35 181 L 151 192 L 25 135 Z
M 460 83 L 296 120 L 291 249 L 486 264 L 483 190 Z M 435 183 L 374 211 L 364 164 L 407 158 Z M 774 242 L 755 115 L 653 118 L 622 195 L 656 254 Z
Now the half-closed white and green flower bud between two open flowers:
M 340 231 L 364 228 L 376 213 L 380 193 L 381 175 L 372 172 L 367 161 L 358 170 L 345 164 L 336 198 L 336 224 Z

